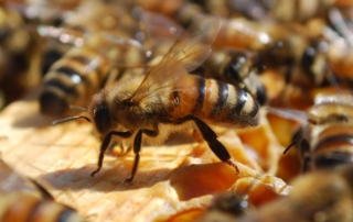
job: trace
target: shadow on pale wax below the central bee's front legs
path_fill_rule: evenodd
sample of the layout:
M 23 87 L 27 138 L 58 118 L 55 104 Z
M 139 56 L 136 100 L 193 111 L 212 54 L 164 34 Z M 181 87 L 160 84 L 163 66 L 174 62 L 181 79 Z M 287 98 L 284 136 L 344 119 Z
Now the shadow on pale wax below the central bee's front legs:
M 90 173 L 96 169 L 95 165 L 87 165 L 82 168 L 61 169 L 46 173 L 39 177 L 45 180 L 53 189 L 57 190 L 96 190 L 100 192 L 135 190 L 152 187 L 159 181 L 165 180 L 172 169 L 158 169 L 148 171 L 138 171 L 131 184 L 124 182 L 129 176 L 131 168 L 121 166 L 103 167 L 95 177 Z M 121 173 L 119 173 L 119 169 Z

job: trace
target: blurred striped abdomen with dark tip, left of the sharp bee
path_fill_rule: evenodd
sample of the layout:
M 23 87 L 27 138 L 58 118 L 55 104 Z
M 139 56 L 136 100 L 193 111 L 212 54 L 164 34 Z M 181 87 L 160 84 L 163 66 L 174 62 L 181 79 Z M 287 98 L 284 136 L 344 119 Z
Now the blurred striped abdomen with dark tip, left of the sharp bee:
M 41 112 L 56 115 L 67 111 L 69 104 L 85 107 L 101 88 L 108 69 L 108 64 L 94 49 L 71 49 L 44 77 Z

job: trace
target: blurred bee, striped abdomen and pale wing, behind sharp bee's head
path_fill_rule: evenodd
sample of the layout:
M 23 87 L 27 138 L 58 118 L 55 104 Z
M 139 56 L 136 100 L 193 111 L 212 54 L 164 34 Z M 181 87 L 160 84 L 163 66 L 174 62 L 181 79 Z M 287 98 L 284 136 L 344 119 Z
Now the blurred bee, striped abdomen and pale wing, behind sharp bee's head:
M 122 58 L 130 59 L 130 64 L 145 63 L 146 54 L 140 43 L 122 38 L 121 42 L 125 44 L 103 40 L 97 45 L 73 47 L 55 62 L 43 79 L 41 112 L 60 115 L 65 113 L 71 104 L 86 106 L 92 96 L 106 84 L 109 74 L 115 71 L 111 66 L 114 58 L 109 57 L 110 55 L 117 63 Z

